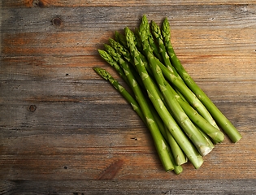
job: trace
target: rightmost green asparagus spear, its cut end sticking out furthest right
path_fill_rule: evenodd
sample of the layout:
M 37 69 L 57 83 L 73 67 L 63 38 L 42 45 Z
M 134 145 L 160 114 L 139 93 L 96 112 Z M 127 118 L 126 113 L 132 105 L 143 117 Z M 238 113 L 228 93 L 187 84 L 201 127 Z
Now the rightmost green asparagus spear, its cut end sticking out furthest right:
M 179 58 L 177 58 L 175 51 L 171 45 L 171 31 L 169 22 L 167 19 L 163 21 L 163 37 L 164 43 L 167 48 L 167 53 L 171 58 L 171 64 L 176 68 L 176 71 L 179 72 L 180 76 L 189 86 L 189 89 L 193 91 L 193 93 L 197 96 L 197 98 L 206 106 L 207 110 L 210 111 L 210 114 L 215 119 L 216 123 L 219 124 L 219 127 L 222 128 L 223 132 L 225 132 L 232 142 L 239 141 L 241 139 L 241 134 L 237 131 L 237 129 L 233 126 L 233 124 L 226 118 L 225 115 L 221 111 L 219 111 L 218 107 L 215 106 L 213 102 L 211 102 L 210 98 L 202 91 L 202 89 L 195 83 L 195 81 L 189 76 L 189 73 L 186 72 L 182 64 L 180 63 Z

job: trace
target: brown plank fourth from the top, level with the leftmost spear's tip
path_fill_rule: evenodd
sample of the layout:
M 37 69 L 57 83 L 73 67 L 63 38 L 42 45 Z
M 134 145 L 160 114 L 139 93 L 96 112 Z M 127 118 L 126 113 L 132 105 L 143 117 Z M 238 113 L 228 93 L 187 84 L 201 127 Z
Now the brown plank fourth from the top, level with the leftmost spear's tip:
M 210 56 L 197 54 L 182 54 L 180 60 L 197 82 L 225 82 L 246 81 L 254 83 L 256 70 L 254 61 L 256 56 L 244 54 L 237 58 L 236 54 Z M 90 82 L 102 80 L 93 67 L 104 67 L 113 76 L 119 76 L 110 65 L 97 56 L 20 56 L 5 57 L 0 69 L 1 80 L 63 80 L 74 82 L 77 80 Z M 246 76 L 246 77 L 245 77 Z M 124 82 L 119 79 L 124 85 Z M 93 84 L 92 84 L 93 85 Z M 207 89 L 209 90 L 209 89 Z

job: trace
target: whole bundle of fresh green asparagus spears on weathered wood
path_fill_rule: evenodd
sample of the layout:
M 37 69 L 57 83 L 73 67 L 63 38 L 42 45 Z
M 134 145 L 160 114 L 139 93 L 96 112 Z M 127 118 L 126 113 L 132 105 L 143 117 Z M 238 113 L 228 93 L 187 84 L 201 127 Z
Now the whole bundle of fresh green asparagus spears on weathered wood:
M 115 68 L 132 89 L 124 89 L 109 72 L 94 67 L 131 104 L 154 140 L 165 171 L 180 174 L 188 161 L 196 169 L 203 156 L 224 139 L 241 134 L 185 71 L 171 45 L 170 24 L 149 23 L 143 15 L 139 28 L 115 32 L 100 56 Z M 220 130 L 221 129 L 221 130 Z

